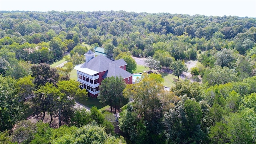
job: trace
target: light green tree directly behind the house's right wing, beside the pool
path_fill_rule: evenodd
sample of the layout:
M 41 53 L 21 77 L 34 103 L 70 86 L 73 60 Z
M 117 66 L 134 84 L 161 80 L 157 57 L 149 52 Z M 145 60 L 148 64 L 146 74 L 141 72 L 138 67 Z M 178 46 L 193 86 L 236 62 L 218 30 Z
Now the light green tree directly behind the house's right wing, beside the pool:
M 118 56 L 115 58 L 115 60 L 124 59 L 126 62 L 126 71 L 130 72 L 131 74 L 137 69 L 136 61 L 131 57 L 130 53 L 128 52 L 122 52 L 118 54 Z

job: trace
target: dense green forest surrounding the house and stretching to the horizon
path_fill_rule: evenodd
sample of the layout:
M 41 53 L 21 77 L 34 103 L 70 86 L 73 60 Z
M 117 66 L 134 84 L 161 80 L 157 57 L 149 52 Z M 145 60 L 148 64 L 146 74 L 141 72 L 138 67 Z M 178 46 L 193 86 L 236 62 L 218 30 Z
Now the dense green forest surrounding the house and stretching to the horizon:
M 170 91 L 152 74 L 122 86 L 119 96 L 132 102 L 116 132 L 109 112 L 73 108 L 87 92 L 70 71 L 95 46 L 108 58 L 149 57 L 160 70 L 187 60 L 202 66 Z M 67 52 L 65 70 L 50 67 Z M 255 144 L 256 18 L 0 11 L 0 102 L 1 143 Z M 58 116 L 59 128 L 26 120 L 31 106 Z

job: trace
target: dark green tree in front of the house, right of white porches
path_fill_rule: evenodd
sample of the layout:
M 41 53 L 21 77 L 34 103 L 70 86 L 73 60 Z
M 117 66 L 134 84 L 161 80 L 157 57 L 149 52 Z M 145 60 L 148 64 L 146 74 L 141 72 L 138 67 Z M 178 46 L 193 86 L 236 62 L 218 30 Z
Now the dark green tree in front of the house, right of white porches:
M 111 112 L 112 107 L 116 112 L 116 108 L 120 110 L 121 105 L 127 102 L 123 96 L 124 88 L 125 82 L 122 78 L 118 76 L 116 78 L 114 76 L 105 78 L 101 82 L 98 99 L 102 104 L 108 104 Z

